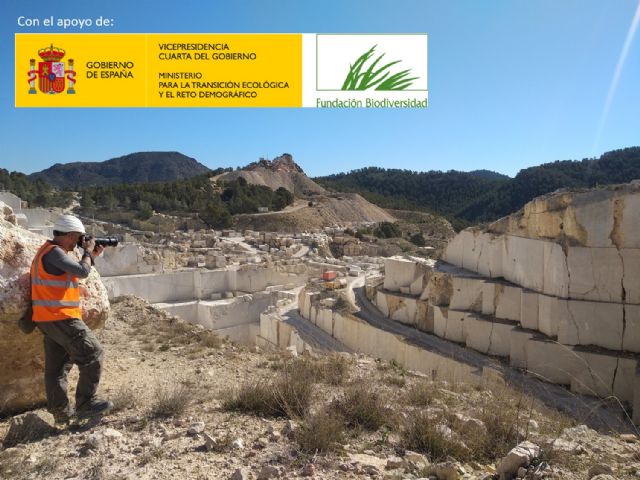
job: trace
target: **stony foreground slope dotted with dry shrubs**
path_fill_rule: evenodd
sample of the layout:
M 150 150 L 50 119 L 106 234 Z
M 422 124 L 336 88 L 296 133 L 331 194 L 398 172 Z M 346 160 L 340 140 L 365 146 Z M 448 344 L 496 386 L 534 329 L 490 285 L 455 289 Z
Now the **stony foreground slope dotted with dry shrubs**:
M 112 309 L 100 393 L 116 411 L 58 430 L 38 426 L 42 410 L 0 420 L 0 478 L 640 478 L 635 435 L 597 433 L 504 385 L 259 352 L 133 297 Z

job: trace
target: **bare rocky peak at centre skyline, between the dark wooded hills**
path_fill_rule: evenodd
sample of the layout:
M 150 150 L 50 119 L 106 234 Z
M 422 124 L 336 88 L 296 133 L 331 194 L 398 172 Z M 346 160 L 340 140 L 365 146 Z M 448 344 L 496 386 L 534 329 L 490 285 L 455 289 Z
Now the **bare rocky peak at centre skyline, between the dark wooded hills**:
M 230 181 L 244 178 L 247 183 L 264 185 L 272 190 L 284 187 L 296 197 L 304 197 L 316 193 L 324 193 L 326 190 L 307 177 L 294 162 L 293 157 L 284 153 L 274 160 L 260 160 L 251 163 L 241 170 L 225 172 L 212 177 L 212 180 Z

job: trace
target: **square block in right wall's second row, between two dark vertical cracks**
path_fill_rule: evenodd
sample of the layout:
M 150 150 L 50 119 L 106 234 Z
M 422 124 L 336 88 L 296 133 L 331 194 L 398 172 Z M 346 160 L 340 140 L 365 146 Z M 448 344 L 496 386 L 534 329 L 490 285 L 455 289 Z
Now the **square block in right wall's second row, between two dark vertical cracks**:
M 616 248 L 569 247 L 569 298 L 622 302 L 622 257 Z

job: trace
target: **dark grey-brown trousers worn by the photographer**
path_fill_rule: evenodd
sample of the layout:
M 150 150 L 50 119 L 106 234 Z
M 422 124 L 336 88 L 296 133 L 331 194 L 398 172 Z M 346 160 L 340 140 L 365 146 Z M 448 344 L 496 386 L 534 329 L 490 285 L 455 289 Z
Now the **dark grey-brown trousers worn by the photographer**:
M 44 334 L 44 383 L 47 409 L 68 411 L 67 375 L 75 364 L 80 371 L 76 387 L 76 409 L 95 398 L 102 374 L 103 351 L 87 325 L 77 318 L 37 322 Z

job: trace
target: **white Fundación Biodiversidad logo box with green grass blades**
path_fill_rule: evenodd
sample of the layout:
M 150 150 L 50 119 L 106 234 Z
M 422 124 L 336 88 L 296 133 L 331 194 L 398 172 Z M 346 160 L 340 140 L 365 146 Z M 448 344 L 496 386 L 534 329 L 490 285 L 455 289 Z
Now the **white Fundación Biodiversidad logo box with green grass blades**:
M 317 34 L 316 106 L 426 108 L 426 34 Z

